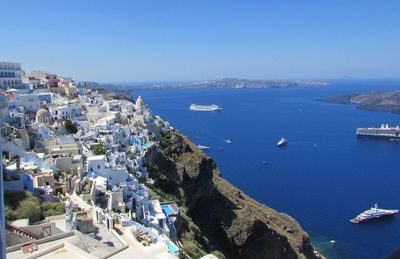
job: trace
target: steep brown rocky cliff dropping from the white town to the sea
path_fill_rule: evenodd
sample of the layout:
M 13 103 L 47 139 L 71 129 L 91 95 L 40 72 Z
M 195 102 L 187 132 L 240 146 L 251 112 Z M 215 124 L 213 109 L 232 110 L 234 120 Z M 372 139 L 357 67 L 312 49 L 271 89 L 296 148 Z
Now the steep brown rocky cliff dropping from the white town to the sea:
M 152 161 L 155 186 L 187 207 L 178 228 L 183 243 L 194 230 L 201 249 L 218 250 L 227 258 L 316 258 L 296 220 L 223 179 L 215 162 L 179 132 L 164 134 Z

